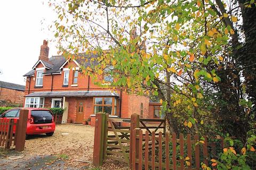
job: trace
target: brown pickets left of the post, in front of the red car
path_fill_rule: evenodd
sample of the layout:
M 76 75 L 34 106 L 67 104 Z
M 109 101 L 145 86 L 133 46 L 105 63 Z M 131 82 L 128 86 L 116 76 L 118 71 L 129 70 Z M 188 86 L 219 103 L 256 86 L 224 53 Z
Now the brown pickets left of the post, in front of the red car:
M 17 123 L 14 123 L 14 118 L 0 119 L 0 146 L 9 149 L 12 145 L 15 146 L 15 135 L 13 135 L 13 127 L 17 126 Z M 17 133 L 15 133 L 17 134 Z

